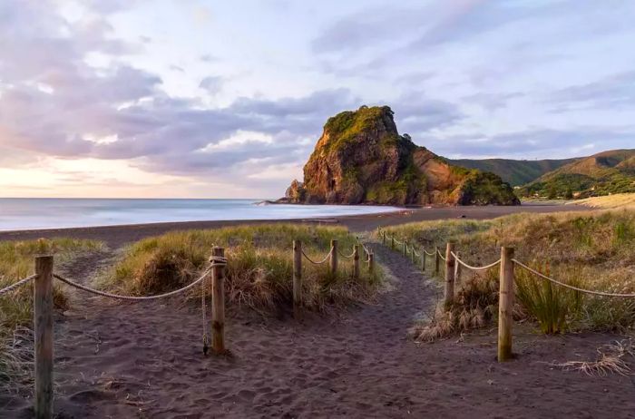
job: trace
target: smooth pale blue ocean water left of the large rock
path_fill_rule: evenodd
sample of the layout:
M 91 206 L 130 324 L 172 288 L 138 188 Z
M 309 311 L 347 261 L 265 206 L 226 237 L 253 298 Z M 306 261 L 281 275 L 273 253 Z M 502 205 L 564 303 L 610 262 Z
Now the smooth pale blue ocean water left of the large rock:
M 170 221 L 306 219 L 371 214 L 395 207 L 263 205 L 262 200 L 0 198 L 0 230 L 61 229 Z

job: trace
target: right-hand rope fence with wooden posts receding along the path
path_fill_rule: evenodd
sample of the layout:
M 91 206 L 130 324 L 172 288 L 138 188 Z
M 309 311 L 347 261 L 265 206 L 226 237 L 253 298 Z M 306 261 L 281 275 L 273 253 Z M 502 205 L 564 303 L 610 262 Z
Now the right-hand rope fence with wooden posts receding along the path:
M 386 231 L 379 229 L 379 233 L 382 239 L 382 244 L 386 245 L 386 241 L 390 239 L 390 247 L 394 250 L 395 243 L 404 244 L 407 243 L 407 239 L 400 241 L 396 239 L 395 235 L 388 237 Z M 454 243 L 447 243 L 445 247 L 445 257 L 441 253 L 439 248 L 435 248 L 434 252 L 428 252 L 423 249 L 424 255 L 422 260 L 422 270 L 425 271 L 425 256 L 435 257 L 435 275 L 439 274 L 440 261 L 445 262 L 445 295 L 444 306 L 445 309 L 449 309 L 454 304 L 454 282 L 459 280 L 461 275 L 461 267 L 470 269 L 475 272 L 485 271 L 487 269 L 500 267 L 499 273 L 499 301 L 498 301 L 498 360 L 499 362 L 507 361 L 513 358 L 512 352 L 512 327 L 513 327 L 513 299 L 514 299 L 514 282 L 516 268 L 522 268 L 530 274 L 541 278 L 543 280 L 550 281 L 558 287 L 564 287 L 572 289 L 576 292 L 589 294 L 598 297 L 616 297 L 616 298 L 635 298 L 635 293 L 615 293 L 606 291 L 596 291 L 592 289 L 585 289 L 581 287 L 575 287 L 558 279 L 548 277 L 542 274 L 538 270 L 531 268 L 524 264 L 517 258 L 513 258 L 513 248 L 501 248 L 501 258 L 493 261 L 490 264 L 476 267 L 465 262 L 458 251 L 455 251 Z M 414 245 L 410 247 L 411 254 L 415 255 Z M 407 256 L 408 245 L 404 246 L 404 256 Z

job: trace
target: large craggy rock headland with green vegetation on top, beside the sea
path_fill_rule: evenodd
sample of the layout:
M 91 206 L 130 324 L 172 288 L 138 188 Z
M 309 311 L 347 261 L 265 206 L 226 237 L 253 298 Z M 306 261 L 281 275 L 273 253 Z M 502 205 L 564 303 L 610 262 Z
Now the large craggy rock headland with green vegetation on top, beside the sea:
M 387 106 L 329 118 L 285 201 L 337 204 L 518 205 L 493 173 L 452 166 L 399 135 Z

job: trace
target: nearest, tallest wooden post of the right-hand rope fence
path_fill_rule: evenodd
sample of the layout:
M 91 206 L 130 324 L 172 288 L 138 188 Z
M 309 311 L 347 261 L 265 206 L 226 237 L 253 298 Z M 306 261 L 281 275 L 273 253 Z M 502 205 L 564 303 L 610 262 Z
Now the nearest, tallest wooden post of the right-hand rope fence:
M 501 287 L 498 299 L 498 362 L 512 359 L 513 248 L 501 248 Z

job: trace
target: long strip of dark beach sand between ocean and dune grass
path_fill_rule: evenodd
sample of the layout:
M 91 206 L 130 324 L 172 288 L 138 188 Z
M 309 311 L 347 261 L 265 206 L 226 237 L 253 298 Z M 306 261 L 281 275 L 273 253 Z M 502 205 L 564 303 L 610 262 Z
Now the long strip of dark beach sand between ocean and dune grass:
M 61 229 L 21 229 L 0 231 L 2 240 L 50 239 L 72 237 L 74 239 L 97 239 L 111 248 L 158 236 L 169 231 L 183 229 L 218 229 L 222 227 L 269 224 L 269 223 L 315 223 L 345 226 L 353 232 L 369 231 L 406 222 L 434 219 L 493 219 L 504 215 L 531 212 L 547 213 L 562 211 L 588 211 L 589 207 L 577 205 L 520 205 L 485 207 L 430 207 L 403 208 L 401 210 L 375 214 L 357 214 L 338 217 L 311 217 L 302 219 L 225 219 L 210 221 L 171 221 L 112 226 L 73 227 Z

